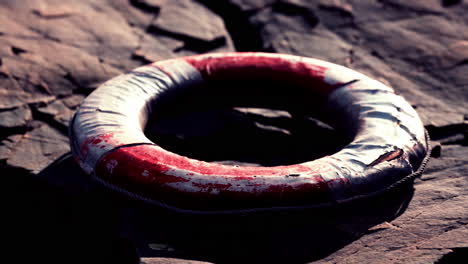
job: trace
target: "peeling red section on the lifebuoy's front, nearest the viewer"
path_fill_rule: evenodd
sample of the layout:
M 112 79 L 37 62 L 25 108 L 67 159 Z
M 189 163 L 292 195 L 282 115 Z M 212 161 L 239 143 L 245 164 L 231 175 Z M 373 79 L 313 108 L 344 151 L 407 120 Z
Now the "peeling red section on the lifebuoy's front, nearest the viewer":
M 111 161 L 117 161 L 112 170 L 107 168 Z M 319 163 L 319 167 L 323 167 Z M 179 171 L 177 176 L 169 175 Z M 173 183 L 189 183 L 198 188 L 197 198 L 218 197 L 223 200 L 240 201 L 283 201 L 284 199 L 303 200 L 325 199 L 330 190 L 319 174 L 311 175 L 312 166 L 291 165 L 278 167 L 235 167 L 216 163 L 191 160 L 168 152 L 158 146 L 139 145 L 121 148 L 107 154 L 98 164 L 96 172 L 107 181 L 126 186 L 137 193 L 151 197 L 163 195 L 165 199 L 176 201 L 181 196 L 195 195 L 193 190 L 181 190 Z M 184 174 L 183 171 L 186 171 Z M 299 174 L 310 183 L 298 185 L 287 182 L 271 184 L 268 177 L 285 178 L 285 171 Z M 216 176 L 217 180 L 192 181 L 195 174 Z M 296 178 L 296 177 L 295 177 Z M 168 185 L 169 184 L 169 185 Z M 269 185 L 271 184 L 271 185 Z M 316 198 L 318 197 L 318 198 Z M 158 198 L 159 199 L 159 198 Z M 217 199 L 219 201 L 219 199 Z M 198 199 L 195 199 L 198 201 Z

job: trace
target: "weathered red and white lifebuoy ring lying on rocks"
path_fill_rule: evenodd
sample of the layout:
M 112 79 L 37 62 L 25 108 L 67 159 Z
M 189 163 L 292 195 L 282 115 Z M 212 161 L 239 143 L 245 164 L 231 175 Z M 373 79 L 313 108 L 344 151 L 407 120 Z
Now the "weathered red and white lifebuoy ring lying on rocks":
M 143 133 L 162 94 L 219 80 L 273 80 L 323 96 L 352 142 L 317 160 L 227 166 L 169 152 Z M 221 89 L 221 88 L 220 88 Z M 293 91 L 292 91 L 293 92 Z M 428 140 L 416 111 L 384 84 L 329 62 L 284 54 L 217 53 L 156 62 L 89 95 L 70 126 L 83 170 L 120 192 L 176 210 L 300 208 L 368 196 L 418 175 Z M 262 209 L 259 209 L 262 210 Z

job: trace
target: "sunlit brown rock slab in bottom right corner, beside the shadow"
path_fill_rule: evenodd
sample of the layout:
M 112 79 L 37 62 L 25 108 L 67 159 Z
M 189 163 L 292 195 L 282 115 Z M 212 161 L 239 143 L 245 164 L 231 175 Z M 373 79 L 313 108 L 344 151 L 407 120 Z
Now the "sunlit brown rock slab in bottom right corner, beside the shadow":
M 444 146 L 442 156 L 431 160 L 416 181 L 404 214 L 317 262 L 434 263 L 453 249 L 466 248 L 467 155 L 466 147 Z

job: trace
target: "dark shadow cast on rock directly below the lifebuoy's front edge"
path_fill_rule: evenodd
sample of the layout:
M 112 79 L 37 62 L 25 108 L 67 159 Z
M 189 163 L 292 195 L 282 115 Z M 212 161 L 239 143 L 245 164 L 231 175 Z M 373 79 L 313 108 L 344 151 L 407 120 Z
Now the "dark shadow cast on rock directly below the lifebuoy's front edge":
M 142 257 L 176 257 L 215 263 L 305 263 L 321 259 L 407 207 L 410 185 L 373 199 L 301 212 L 193 216 L 132 207 Z M 377 229 L 378 231 L 378 229 Z M 138 235 L 139 234 L 139 235 Z M 130 235 L 128 236 L 130 237 Z

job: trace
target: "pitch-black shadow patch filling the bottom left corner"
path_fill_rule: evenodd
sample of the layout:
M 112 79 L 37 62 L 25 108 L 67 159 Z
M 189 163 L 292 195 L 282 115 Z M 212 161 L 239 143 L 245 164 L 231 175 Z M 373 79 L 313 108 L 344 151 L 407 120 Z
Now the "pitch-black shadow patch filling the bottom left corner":
M 138 263 L 136 248 L 119 236 L 113 201 L 95 191 L 69 154 L 39 175 L 5 165 L 1 171 L 8 194 L 2 217 L 7 220 L 2 232 L 7 244 L 3 252 L 11 256 L 7 259 L 14 263 Z

